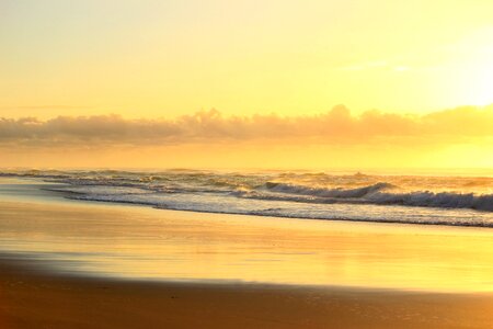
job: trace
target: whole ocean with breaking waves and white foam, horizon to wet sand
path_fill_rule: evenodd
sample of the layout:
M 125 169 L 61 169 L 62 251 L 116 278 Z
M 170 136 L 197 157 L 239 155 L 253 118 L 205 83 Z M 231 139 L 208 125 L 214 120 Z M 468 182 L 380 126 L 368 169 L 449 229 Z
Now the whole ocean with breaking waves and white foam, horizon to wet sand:
M 493 227 L 493 177 L 213 170 L 3 170 L 65 197 L 255 216 Z

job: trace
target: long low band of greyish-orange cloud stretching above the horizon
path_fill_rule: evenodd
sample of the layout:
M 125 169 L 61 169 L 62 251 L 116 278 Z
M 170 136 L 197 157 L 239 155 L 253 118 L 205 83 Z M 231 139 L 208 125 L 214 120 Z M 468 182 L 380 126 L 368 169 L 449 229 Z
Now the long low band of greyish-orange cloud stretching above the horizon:
M 344 105 L 319 115 L 225 116 L 216 110 L 173 120 L 125 120 L 118 115 L 0 118 L 0 145 L 89 147 L 302 140 L 371 144 L 395 140 L 456 143 L 493 137 L 493 105 L 462 106 L 424 115 L 377 110 L 354 115 Z

